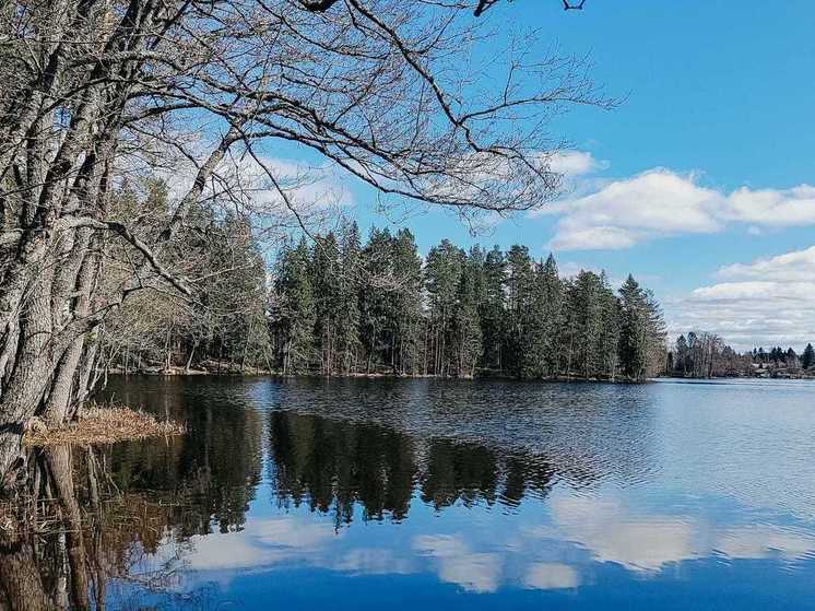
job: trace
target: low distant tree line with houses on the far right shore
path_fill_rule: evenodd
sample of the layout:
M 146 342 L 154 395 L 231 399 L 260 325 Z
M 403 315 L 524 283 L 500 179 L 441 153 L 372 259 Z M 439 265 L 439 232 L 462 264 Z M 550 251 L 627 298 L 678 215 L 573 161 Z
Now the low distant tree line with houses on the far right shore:
M 807 343 L 801 354 L 781 346 L 737 352 L 716 333 L 692 331 L 681 334 L 668 353 L 666 373 L 692 378 L 815 376 L 815 349 Z

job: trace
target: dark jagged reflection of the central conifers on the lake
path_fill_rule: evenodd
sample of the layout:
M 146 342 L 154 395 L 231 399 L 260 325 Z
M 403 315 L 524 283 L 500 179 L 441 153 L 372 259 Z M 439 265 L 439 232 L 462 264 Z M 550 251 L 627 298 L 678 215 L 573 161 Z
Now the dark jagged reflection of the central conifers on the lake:
M 517 506 L 528 492 L 545 496 L 556 474 L 542 457 L 317 415 L 270 412 L 269 433 L 277 503 L 332 512 L 338 525 L 353 520 L 355 505 L 365 520 L 404 519 L 414 492 L 436 509 Z

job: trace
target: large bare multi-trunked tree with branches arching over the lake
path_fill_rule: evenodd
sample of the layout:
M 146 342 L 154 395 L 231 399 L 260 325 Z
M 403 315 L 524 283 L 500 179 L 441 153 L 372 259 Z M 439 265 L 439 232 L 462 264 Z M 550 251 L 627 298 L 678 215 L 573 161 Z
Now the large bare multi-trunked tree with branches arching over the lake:
M 310 151 L 386 203 L 472 215 L 552 199 L 547 119 L 605 103 L 581 61 L 516 54 L 498 79 L 494 61 L 470 57 L 489 27 L 472 13 L 494 3 L 4 3 L 0 472 L 29 418 L 60 422 L 85 397 L 108 313 L 143 290 L 196 298 L 198 279 L 167 255 L 202 202 L 228 202 L 259 233 L 306 227 L 307 202 L 272 161 L 280 148 Z M 241 184 L 247 163 L 273 198 Z M 117 215 L 117 186 L 150 175 L 172 180 L 169 210 Z

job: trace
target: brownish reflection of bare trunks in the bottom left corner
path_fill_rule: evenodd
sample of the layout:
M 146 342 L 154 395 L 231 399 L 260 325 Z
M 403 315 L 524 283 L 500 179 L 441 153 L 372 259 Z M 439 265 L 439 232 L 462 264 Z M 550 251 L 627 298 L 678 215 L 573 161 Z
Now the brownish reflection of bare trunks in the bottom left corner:
M 180 559 L 157 561 L 176 500 L 119 490 L 108 458 L 69 446 L 31 451 L 29 485 L 2 509 L 3 608 L 119 609 L 178 583 Z M 130 587 L 109 590 L 116 581 Z

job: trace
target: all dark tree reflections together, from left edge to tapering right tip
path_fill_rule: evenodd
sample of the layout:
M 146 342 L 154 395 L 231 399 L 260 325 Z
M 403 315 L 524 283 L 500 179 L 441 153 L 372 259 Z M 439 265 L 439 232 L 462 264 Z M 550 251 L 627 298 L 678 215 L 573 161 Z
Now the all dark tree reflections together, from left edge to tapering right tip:
M 205 587 L 185 587 L 185 555 L 201 537 L 241 530 L 261 483 L 277 506 L 330 514 L 340 528 L 404 520 L 412 503 L 511 508 L 545 496 L 564 473 L 592 472 L 368 422 L 187 407 L 167 407 L 186 416 L 182 437 L 31 451 L 25 502 L 5 504 L 0 529 L 7 608 L 155 607 L 156 597 L 206 607 Z

